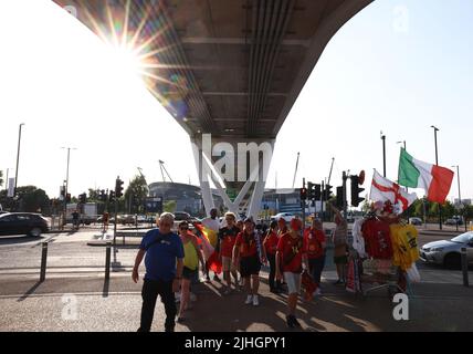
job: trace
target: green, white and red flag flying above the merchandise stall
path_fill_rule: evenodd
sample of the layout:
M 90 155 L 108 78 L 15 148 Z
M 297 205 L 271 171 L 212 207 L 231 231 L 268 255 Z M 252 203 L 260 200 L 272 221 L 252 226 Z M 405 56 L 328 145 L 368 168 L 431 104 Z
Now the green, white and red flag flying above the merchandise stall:
M 413 158 L 401 148 L 399 159 L 399 185 L 423 188 L 430 201 L 444 204 L 452 186 L 453 171 Z

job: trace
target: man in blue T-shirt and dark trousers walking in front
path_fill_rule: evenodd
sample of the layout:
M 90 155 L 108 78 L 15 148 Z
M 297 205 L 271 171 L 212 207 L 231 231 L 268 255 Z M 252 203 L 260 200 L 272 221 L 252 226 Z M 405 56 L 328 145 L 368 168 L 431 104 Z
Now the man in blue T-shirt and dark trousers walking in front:
M 146 274 L 141 290 L 143 308 L 138 332 L 149 332 L 158 295 L 165 304 L 166 332 L 174 332 L 177 313 L 175 292 L 179 291 L 183 268 L 183 246 L 171 231 L 174 215 L 165 212 L 159 218 L 159 229 L 148 231 L 141 240 L 133 268 L 133 281 L 138 282 L 138 268 L 145 258 Z

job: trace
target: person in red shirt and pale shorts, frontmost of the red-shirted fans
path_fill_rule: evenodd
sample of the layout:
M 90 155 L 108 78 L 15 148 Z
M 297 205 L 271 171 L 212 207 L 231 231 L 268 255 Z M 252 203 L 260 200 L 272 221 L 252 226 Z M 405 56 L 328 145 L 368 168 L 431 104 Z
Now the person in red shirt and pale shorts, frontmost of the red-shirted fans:
M 301 324 L 295 317 L 297 296 L 301 291 L 301 273 L 303 263 L 303 238 L 301 236 L 302 222 L 299 219 L 291 220 L 291 230 L 281 236 L 277 243 L 276 253 L 276 279 L 281 280 L 281 266 L 284 280 L 287 283 L 287 315 L 286 321 L 290 327 Z M 307 267 L 307 263 L 305 264 Z

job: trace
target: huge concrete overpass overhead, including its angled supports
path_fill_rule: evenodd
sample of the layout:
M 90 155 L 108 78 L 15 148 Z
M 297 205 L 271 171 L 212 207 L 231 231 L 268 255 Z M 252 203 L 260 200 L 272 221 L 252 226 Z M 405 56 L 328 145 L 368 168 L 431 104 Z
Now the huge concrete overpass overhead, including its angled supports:
M 284 119 L 328 41 L 371 1 L 54 0 L 137 49 L 148 90 L 190 136 L 207 211 L 213 181 L 252 216 Z

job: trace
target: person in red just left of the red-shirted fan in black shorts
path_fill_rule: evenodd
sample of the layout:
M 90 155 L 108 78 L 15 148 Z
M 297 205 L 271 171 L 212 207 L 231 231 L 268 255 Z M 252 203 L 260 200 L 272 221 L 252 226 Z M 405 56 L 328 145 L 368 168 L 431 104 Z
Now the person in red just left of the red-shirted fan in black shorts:
M 235 226 L 235 215 L 233 212 L 225 214 L 227 226 L 219 231 L 220 256 L 222 259 L 223 279 L 227 282 L 227 289 L 223 294 L 228 295 L 231 292 L 232 280 L 230 273 L 235 281 L 235 289 L 239 289 L 236 268 L 232 262 L 233 247 L 235 244 L 236 236 L 240 233 L 239 228 Z

